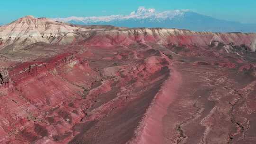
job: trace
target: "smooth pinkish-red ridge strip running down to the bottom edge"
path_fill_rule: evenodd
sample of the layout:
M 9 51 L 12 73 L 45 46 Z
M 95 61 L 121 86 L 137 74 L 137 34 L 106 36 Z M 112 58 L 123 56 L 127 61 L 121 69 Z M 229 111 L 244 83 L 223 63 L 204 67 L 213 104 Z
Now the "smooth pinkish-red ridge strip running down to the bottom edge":
M 136 131 L 134 140 L 129 144 L 164 144 L 163 118 L 167 114 L 168 106 L 176 99 L 176 93 L 182 82 L 181 75 L 176 70 L 170 72 L 159 92 L 155 95 L 140 126 Z

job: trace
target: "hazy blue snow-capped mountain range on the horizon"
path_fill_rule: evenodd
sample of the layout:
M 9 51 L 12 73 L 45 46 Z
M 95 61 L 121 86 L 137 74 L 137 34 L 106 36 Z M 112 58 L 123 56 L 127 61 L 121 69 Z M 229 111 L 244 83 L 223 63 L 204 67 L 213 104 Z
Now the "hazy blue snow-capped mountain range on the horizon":
M 79 25 L 114 25 L 119 27 L 164 27 L 212 32 L 256 32 L 256 24 L 242 24 L 219 20 L 190 10 L 158 12 L 155 9 L 139 7 L 129 15 L 99 17 L 53 18 L 56 21 Z

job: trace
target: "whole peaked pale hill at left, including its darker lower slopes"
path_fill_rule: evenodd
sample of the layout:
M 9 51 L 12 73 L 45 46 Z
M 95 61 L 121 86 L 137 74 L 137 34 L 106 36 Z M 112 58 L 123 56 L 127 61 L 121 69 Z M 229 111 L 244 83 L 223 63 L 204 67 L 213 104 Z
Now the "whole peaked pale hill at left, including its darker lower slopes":
M 58 23 L 48 18 L 26 16 L 0 27 L 0 49 L 7 52 L 20 50 L 37 42 L 64 45 L 82 39 L 77 32 L 86 28 Z

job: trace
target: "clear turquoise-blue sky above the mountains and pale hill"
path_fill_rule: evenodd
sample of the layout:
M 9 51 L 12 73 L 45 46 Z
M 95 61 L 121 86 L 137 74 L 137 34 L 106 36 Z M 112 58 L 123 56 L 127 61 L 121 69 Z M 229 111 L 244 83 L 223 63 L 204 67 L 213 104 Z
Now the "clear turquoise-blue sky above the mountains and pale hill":
M 157 11 L 190 9 L 215 18 L 256 23 L 256 0 L 1 0 L 0 25 L 35 17 L 129 14 L 139 6 Z

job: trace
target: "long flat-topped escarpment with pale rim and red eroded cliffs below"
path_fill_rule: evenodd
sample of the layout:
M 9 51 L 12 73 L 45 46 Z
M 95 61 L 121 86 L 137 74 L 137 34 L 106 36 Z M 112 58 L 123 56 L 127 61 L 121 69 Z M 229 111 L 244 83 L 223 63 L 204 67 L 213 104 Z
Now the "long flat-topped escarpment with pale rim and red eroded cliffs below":
M 157 43 L 160 45 L 194 45 L 208 47 L 211 42 L 218 41 L 226 45 L 245 45 L 255 51 L 255 33 L 212 33 L 194 32 L 165 28 L 132 28 L 126 30 L 98 31 L 90 39 L 81 44 L 109 47 L 115 45 L 131 45 L 133 43 Z

